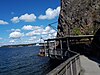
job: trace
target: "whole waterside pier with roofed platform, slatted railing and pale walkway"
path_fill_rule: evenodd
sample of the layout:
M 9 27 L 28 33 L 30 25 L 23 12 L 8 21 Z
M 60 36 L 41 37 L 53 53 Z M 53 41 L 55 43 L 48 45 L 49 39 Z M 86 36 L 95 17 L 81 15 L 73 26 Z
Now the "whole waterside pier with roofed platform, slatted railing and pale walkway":
M 72 45 L 76 44 L 90 45 L 93 39 L 94 35 L 70 35 L 45 40 L 45 56 L 53 60 L 64 60 L 47 75 L 99 75 L 98 63 L 70 49 Z

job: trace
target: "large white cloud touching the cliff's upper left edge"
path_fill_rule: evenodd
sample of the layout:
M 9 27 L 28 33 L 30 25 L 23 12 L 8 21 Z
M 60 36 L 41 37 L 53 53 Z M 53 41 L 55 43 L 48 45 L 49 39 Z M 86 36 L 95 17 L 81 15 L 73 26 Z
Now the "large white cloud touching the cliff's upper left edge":
M 54 19 L 55 17 L 59 16 L 59 13 L 60 13 L 60 6 L 57 7 L 56 9 L 48 8 L 45 11 L 45 15 L 40 15 L 38 18 L 41 20 L 45 20 L 45 19 L 50 20 L 50 19 Z

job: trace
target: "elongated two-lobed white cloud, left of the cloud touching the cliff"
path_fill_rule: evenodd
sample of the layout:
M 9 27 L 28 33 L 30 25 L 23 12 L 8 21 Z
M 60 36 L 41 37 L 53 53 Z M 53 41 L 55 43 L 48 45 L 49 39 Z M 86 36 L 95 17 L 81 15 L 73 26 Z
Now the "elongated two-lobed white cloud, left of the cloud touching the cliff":
M 13 17 L 11 21 L 13 23 L 18 23 L 20 21 L 25 21 L 25 22 L 34 22 L 36 20 L 36 16 L 34 14 L 24 14 L 21 15 L 20 17 Z

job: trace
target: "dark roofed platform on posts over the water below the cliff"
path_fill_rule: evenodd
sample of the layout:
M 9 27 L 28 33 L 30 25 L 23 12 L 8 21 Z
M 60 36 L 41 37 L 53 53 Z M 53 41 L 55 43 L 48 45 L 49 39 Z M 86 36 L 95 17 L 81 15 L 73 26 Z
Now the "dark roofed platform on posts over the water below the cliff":
M 70 53 L 71 44 L 90 43 L 92 39 L 93 35 L 70 35 L 45 40 L 47 42 L 47 46 L 45 47 L 45 56 L 53 59 L 69 58 L 74 55 L 73 53 Z

